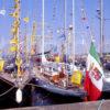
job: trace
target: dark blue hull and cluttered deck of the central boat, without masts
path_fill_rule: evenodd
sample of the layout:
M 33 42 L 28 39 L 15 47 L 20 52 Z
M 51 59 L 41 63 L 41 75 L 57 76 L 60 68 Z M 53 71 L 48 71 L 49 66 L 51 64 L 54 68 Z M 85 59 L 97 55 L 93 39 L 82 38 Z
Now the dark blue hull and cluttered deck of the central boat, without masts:
M 65 69 L 66 73 L 62 73 L 64 68 L 62 66 L 67 67 Z M 41 65 L 34 65 L 33 73 L 35 75 L 35 84 L 53 94 L 57 94 L 65 97 L 86 97 L 87 92 L 84 90 L 82 85 L 74 85 L 72 82 L 72 65 L 65 63 L 54 63 L 54 62 L 45 62 Z M 82 82 L 82 79 L 81 79 Z

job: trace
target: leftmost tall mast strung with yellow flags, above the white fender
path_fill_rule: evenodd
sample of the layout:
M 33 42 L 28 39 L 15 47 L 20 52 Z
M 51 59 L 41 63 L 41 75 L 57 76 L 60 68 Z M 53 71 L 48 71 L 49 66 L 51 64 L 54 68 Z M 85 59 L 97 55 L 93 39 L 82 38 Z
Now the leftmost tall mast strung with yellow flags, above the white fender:
M 14 12 L 11 14 L 14 18 L 13 25 L 12 25 L 12 34 L 13 34 L 13 41 L 15 41 L 14 47 L 15 47 L 15 64 L 18 66 L 18 77 L 21 76 L 21 64 L 22 61 L 20 58 L 20 45 L 19 45 L 19 36 L 20 36 L 20 0 L 14 0 Z

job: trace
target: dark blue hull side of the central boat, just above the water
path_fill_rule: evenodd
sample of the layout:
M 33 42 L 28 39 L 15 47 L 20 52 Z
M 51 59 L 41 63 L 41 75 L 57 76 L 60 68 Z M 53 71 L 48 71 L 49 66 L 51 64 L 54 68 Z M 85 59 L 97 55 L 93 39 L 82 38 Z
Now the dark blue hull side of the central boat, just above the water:
M 41 87 L 50 92 L 57 94 L 61 96 L 84 98 L 87 95 L 86 91 L 84 91 L 81 89 L 76 88 L 75 90 L 72 90 L 72 89 L 59 88 L 56 85 L 50 84 L 50 82 L 41 80 L 41 79 L 36 79 L 35 84 L 38 85 L 38 87 Z

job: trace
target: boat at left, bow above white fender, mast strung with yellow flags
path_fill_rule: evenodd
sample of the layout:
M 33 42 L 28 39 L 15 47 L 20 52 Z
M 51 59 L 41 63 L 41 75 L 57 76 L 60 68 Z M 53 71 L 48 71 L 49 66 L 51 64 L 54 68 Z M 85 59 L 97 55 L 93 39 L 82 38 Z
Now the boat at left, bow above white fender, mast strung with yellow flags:
M 10 53 L 3 58 L 4 63 L 0 61 L 0 67 L 2 67 L 1 79 L 16 88 L 23 88 L 26 81 L 31 79 L 31 77 L 29 78 L 30 70 L 28 70 L 29 68 L 26 68 L 24 57 L 20 51 L 20 0 L 14 0 L 13 12 L 10 14 L 14 19 L 11 29 Z

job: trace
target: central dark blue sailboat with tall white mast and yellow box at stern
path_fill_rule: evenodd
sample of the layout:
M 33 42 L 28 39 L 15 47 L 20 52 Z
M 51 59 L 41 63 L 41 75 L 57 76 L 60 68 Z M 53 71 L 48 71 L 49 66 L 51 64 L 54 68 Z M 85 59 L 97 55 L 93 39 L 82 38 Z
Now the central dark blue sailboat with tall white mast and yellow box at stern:
M 74 2 L 74 1 L 73 1 Z M 58 94 L 62 96 L 73 96 L 73 97 L 85 97 L 87 94 L 82 88 L 82 73 L 78 70 L 74 63 L 65 63 L 61 62 L 61 57 L 58 55 L 54 56 L 54 61 L 47 61 L 44 52 L 44 0 L 43 3 L 43 16 L 42 16 L 42 54 L 38 55 L 38 63 L 35 64 L 36 59 L 34 59 L 34 65 L 32 73 L 36 77 L 35 84 L 38 87 L 44 88 L 51 92 Z M 73 28 L 70 26 L 70 31 Z M 66 29 L 65 29 L 66 30 Z M 65 44 L 63 47 L 62 56 L 65 55 Z M 62 58 L 63 59 L 63 58 Z M 75 69 L 76 68 L 76 69 Z

